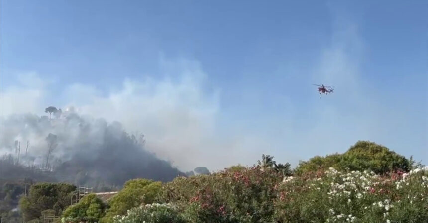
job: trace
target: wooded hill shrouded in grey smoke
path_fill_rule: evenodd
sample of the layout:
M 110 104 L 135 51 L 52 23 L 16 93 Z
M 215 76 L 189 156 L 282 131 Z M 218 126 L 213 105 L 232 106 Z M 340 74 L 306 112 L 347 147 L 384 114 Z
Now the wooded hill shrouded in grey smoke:
M 48 108 L 52 114 L 60 111 Z M 169 181 L 184 175 L 145 150 L 144 135 L 126 133 L 119 122 L 79 115 L 73 108 L 54 116 L 3 118 L 1 155 L 11 154 L 21 165 L 52 171 L 58 180 L 75 184 L 121 185 L 132 178 Z M 21 144 L 27 145 L 25 153 Z

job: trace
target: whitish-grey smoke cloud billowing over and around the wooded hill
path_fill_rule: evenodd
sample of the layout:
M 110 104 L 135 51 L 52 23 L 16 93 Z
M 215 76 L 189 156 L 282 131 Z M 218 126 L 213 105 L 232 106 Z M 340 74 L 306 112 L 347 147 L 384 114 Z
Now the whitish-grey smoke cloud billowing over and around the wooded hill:
M 214 148 L 227 148 L 214 137 L 218 91 L 203 91 L 205 74 L 197 63 L 161 63 L 165 74 L 174 71 L 178 78 L 125 79 L 121 89 L 104 94 L 80 83 L 55 92 L 55 82 L 44 82 L 46 77 L 20 75 L 15 86 L 1 91 L 1 155 L 16 157 L 14 142 L 23 151 L 28 141 L 21 164 L 55 168 L 59 178 L 72 182 L 100 177 L 115 184 L 136 177 L 165 181 L 182 174 L 173 166 L 213 167 L 215 161 L 206 161 L 217 152 Z M 50 95 L 66 103 L 54 104 Z M 49 120 L 43 113 L 48 106 L 61 108 L 61 118 L 52 114 Z M 58 145 L 48 162 L 50 133 Z M 141 134 L 144 146 L 132 139 Z

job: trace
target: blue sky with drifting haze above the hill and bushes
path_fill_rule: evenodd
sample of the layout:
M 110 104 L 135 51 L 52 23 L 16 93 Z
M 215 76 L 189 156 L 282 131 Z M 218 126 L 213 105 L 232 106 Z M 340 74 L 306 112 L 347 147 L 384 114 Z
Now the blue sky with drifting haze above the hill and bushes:
M 297 164 L 357 140 L 428 164 L 426 0 L 0 6 L 2 116 L 74 105 L 183 168 Z

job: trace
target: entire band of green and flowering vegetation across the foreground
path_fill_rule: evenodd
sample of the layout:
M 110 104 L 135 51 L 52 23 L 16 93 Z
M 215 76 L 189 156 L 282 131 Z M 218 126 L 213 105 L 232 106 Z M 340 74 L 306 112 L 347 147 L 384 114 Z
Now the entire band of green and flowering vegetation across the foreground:
M 95 194 L 69 205 L 73 185 L 42 183 L 21 198 L 27 220 L 44 213 L 63 223 L 325 223 L 414 222 L 428 219 L 428 167 L 372 142 L 315 157 L 294 170 L 263 155 L 252 167 L 127 181 L 107 204 Z M 199 169 L 200 170 L 200 169 Z M 4 185 L 7 196 L 19 188 Z M 15 189 L 13 189 L 15 188 Z M 68 207 L 67 207 L 68 206 Z

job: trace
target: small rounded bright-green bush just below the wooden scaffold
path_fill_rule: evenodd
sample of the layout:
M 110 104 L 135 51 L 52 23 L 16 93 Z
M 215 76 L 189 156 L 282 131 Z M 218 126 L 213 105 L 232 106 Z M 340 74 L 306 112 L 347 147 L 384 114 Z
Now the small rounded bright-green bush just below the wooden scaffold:
M 95 223 L 105 214 L 106 205 L 95 194 L 88 194 L 79 203 L 68 207 L 63 215 L 62 222 L 66 223 Z

